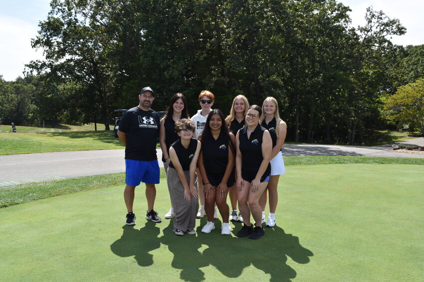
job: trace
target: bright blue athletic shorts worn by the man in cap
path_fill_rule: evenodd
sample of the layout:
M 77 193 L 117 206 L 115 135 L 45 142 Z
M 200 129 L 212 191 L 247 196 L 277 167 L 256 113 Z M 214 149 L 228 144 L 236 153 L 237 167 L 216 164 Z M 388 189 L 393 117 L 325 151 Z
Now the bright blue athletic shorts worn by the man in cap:
M 137 161 L 125 160 L 125 183 L 129 186 L 139 186 L 141 182 L 159 184 L 160 171 L 158 160 Z

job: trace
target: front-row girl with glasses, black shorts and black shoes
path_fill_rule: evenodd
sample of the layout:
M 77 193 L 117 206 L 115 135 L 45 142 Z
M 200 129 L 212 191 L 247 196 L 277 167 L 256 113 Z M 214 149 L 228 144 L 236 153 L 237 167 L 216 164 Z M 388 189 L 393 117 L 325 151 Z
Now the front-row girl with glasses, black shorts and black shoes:
M 251 239 L 259 239 L 265 234 L 259 198 L 271 173 L 269 160 L 272 140 L 268 130 L 259 124 L 261 114 L 262 109 L 258 105 L 251 105 L 246 113 L 246 126 L 238 130 L 235 138 L 238 207 L 244 219 L 244 225 L 237 232 L 237 236 L 249 236 Z M 254 228 L 250 226 L 250 213 L 255 221 Z

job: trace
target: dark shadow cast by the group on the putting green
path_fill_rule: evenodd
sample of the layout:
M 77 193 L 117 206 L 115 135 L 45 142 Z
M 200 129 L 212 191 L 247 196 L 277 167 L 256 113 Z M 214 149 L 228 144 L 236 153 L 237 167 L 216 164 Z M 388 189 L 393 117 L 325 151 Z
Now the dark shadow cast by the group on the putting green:
M 124 226 L 120 239 L 111 245 L 114 254 L 121 257 L 134 256 L 140 266 L 153 264 L 153 256 L 148 252 L 160 247 L 160 243 L 168 246 L 173 254 L 172 267 L 181 269 L 180 279 L 190 282 L 205 280 L 201 268 L 212 265 L 223 276 L 237 278 L 250 265 L 270 275 L 270 282 L 290 282 L 296 277 L 296 271 L 287 265 L 287 257 L 298 264 L 309 263 L 313 253 L 304 248 L 299 238 L 286 234 L 278 226 L 265 228 L 265 236 L 260 240 L 238 238 L 220 234 L 220 221 L 215 220 L 215 230 L 210 234 L 201 233 L 206 219 L 202 219 L 197 227 L 197 235 L 185 234 L 176 236 L 173 220 L 163 230 L 163 236 L 158 238 L 159 228 L 153 223 L 146 223 L 140 230 L 132 226 Z M 241 229 L 241 223 L 235 223 L 233 235 Z M 149 244 L 143 244 L 149 242 Z M 199 250 L 208 246 L 203 253 Z

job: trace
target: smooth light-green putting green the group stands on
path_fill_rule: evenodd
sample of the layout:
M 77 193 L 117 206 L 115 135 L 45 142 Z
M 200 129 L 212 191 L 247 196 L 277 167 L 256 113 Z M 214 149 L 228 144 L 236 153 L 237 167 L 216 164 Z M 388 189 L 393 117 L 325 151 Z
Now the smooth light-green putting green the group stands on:
M 260 240 L 126 226 L 123 183 L 0 209 L 2 281 L 421 281 L 422 165 L 289 165 L 277 225 Z M 155 209 L 169 209 L 165 179 Z

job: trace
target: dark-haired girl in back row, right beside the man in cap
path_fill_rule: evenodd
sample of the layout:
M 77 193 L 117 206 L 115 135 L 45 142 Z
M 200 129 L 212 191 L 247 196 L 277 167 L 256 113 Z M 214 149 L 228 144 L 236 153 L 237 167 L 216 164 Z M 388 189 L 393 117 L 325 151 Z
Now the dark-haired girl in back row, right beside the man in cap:
M 161 143 L 162 162 L 164 163 L 165 172 L 167 172 L 168 165 L 171 162 L 169 148 L 172 143 L 180 139 L 177 132 L 175 132 L 175 122 L 181 118 L 189 118 L 187 99 L 183 94 L 177 93 L 172 96 L 166 114 L 161 119 L 159 127 L 159 140 Z M 171 201 L 171 209 L 165 215 L 165 218 L 170 219 L 174 216 L 174 204 Z

